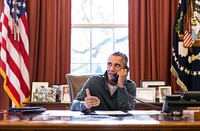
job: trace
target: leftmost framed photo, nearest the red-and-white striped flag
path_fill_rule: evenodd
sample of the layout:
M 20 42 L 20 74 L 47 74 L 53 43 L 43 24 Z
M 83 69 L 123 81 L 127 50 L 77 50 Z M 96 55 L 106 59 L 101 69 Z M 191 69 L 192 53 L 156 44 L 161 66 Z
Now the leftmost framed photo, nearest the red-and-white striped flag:
M 48 88 L 48 82 L 32 82 L 31 101 L 46 101 L 47 92 L 41 92 L 43 88 Z

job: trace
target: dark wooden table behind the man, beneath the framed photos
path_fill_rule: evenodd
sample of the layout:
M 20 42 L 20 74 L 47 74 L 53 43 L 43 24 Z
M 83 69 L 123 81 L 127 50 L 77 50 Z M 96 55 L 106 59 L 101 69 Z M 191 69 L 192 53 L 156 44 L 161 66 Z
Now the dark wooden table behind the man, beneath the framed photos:
M 47 110 L 70 110 L 70 103 L 60 103 L 60 102 L 24 102 L 27 106 L 42 106 Z M 162 107 L 163 103 L 154 102 L 151 103 L 155 106 Z M 144 105 L 142 103 L 136 103 L 135 110 L 155 110 L 155 108 Z

